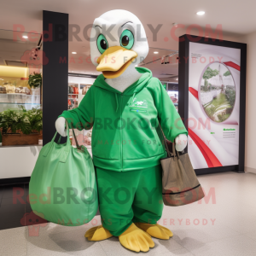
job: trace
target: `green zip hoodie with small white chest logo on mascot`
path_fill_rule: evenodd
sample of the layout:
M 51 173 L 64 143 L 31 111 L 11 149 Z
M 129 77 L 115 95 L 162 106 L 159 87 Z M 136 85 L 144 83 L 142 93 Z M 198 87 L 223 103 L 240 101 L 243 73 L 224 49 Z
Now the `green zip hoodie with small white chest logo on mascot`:
M 100 75 L 79 108 L 60 115 L 80 131 L 93 125 L 93 161 L 102 169 L 126 172 L 159 165 L 166 157 L 159 122 L 167 140 L 188 134 L 160 80 L 147 68 L 137 71 L 143 75 L 124 92 Z

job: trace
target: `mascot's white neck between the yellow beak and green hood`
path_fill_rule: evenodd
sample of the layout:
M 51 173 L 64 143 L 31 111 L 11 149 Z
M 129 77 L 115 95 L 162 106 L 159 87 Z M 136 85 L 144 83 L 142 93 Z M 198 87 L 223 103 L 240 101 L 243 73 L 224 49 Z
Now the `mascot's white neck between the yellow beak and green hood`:
M 138 73 L 134 66 L 129 66 L 118 78 L 105 79 L 105 82 L 113 87 L 115 90 L 123 92 L 131 84 L 135 83 L 140 77 L 141 73 Z

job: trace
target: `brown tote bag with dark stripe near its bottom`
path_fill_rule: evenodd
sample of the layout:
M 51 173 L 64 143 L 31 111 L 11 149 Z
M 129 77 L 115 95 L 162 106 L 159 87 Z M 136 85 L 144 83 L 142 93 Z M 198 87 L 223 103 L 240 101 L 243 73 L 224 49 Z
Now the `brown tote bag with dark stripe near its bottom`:
M 164 204 L 169 207 L 179 207 L 201 200 L 205 195 L 189 160 L 189 154 L 178 154 L 174 143 L 171 154 L 165 136 L 164 141 L 168 155 L 160 160 L 163 169 Z

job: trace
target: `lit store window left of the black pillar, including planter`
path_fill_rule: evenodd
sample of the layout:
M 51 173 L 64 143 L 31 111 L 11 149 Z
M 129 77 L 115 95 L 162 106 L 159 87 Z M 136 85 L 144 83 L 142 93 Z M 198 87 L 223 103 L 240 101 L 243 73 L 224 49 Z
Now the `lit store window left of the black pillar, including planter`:
M 0 30 L 0 145 L 43 143 L 40 34 Z M 35 40 L 37 39 L 37 40 Z

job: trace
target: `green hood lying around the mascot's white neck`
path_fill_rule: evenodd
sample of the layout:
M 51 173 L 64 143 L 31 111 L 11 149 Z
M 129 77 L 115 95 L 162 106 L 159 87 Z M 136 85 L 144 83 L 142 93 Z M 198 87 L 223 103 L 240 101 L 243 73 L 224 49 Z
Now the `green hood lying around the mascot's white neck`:
M 135 93 L 143 90 L 143 88 L 148 84 L 149 79 L 152 78 L 152 72 L 146 67 L 136 67 L 137 72 L 142 73 L 140 79 L 138 79 L 135 83 L 131 84 L 128 88 L 124 90 L 124 92 L 120 92 L 119 90 L 115 90 L 113 87 L 108 85 L 105 82 L 104 76 L 101 74 L 97 77 L 93 86 L 100 87 L 104 90 L 112 91 L 115 94 L 124 94 L 124 95 L 134 95 Z

